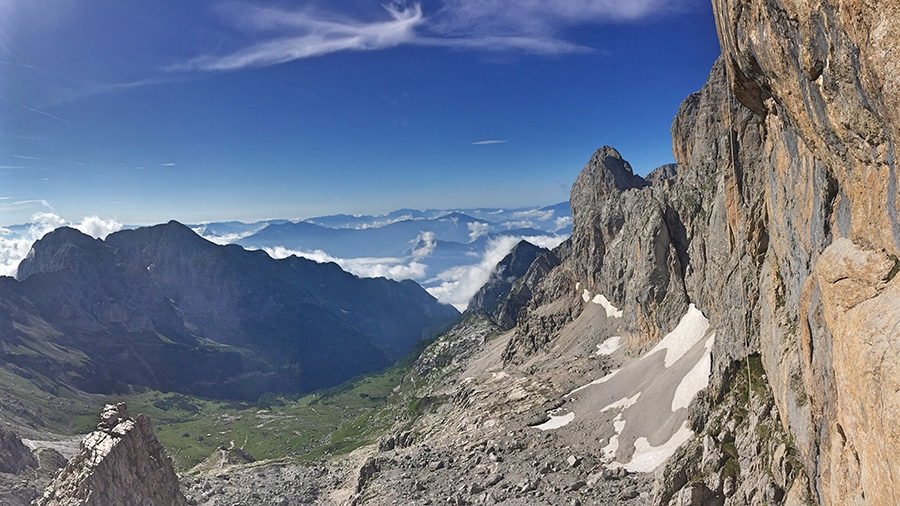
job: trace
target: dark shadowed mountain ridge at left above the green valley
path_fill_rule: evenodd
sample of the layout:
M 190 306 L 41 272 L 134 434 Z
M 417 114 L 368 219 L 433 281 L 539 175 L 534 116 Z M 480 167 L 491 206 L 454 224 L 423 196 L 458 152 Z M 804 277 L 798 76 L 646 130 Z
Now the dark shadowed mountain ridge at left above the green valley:
M 458 316 L 412 281 L 213 244 L 170 222 L 60 228 L 0 277 L 0 368 L 55 392 L 255 400 L 382 369 Z

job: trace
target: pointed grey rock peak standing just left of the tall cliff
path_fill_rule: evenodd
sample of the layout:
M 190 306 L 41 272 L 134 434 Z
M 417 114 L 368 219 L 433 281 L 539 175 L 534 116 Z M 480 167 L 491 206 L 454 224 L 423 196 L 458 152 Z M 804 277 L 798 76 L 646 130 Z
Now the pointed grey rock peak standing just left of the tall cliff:
M 666 189 L 634 175 L 618 151 L 604 146 L 578 175 L 570 202 L 572 237 L 556 253 L 562 266 L 536 286 L 519 333 L 530 341 L 552 336 L 602 295 L 622 311 L 635 342 L 655 344 L 689 302 L 681 282 L 681 223 L 670 213 Z

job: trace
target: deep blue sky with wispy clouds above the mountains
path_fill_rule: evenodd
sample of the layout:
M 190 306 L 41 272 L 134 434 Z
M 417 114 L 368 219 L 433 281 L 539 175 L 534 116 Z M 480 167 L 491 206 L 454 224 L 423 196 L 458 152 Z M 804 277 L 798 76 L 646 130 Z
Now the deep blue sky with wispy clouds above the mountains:
M 549 205 L 718 54 L 705 0 L 0 0 L 0 226 Z

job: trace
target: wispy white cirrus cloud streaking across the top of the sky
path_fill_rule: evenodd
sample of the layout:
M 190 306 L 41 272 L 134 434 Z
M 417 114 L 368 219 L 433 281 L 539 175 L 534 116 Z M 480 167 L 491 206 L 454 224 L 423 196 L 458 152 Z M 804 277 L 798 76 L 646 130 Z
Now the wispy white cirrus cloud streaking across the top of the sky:
M 170 71 L 233 71 L 265 67 L 340 51 L 401 45 L 472 51 L 567 54 L 597 51 L 566 40 L 579 25 L 633 22 L 685 10 L 699 0 L 444 0 L 425 13 L 407 0 L 384 5 L 380 19 L 355 19 L 311 7 L 285 9 L 241 2 L 222 12 L 254 41 L 227 54 L 200 55 Z

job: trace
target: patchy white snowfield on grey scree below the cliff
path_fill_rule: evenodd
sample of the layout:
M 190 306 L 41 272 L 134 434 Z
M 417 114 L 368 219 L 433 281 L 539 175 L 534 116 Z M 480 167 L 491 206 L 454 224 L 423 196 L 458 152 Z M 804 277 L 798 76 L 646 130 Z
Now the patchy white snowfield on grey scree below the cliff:
M 582 297 L 585 302 L 598 300 L 587 290 Z M 602 301 L 596 303 L 607 309 L 608 317 L 616 317 Z M 654 471 L 694 435 L 687 408 L 709 385 L 715 333 L 708 331 L 709 321 L 691 304 L 675 329 L 650 351 L 566 394 L 567 413 L 554 414 L 537 428 L 570 437 L 573 444 L 584 434 L 600 436 L 606 442 L 600 453 L 607 468 Z M 595 353 L 611 354 L 623 341 L 610 337 Z

